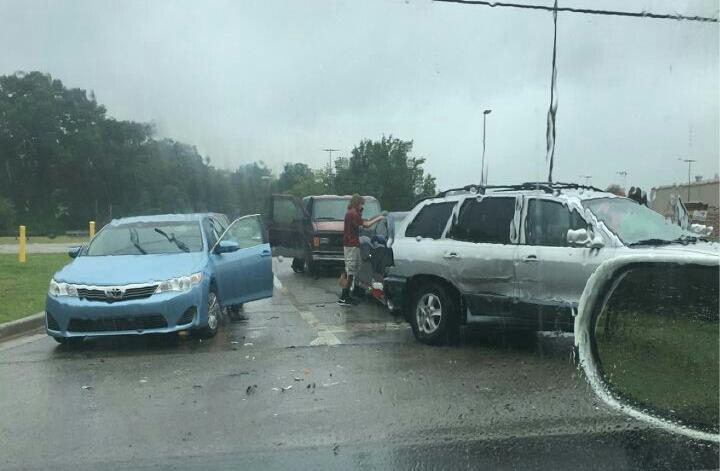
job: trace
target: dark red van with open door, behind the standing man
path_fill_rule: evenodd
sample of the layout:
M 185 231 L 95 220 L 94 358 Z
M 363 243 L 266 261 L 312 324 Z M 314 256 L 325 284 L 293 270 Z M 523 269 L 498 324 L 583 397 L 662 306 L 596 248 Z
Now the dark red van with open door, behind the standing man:
M 314 272 L 319 264 L 342 264 L 343 226 L 350 195 L 273 195 L 267 228 L 273 255 L 293 259 L 295 272 Z M 380 202 L 365 196 L 363 218 L 380 214 Z

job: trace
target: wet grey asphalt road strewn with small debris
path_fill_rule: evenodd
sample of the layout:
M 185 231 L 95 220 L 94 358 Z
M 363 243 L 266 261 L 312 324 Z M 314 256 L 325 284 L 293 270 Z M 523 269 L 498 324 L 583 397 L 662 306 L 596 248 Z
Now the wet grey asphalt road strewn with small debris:
M 423 346 L 372 300 L 335 305 L 332 273 L 275 267 L 274 298 L 209 341 L 0 344 L 0 469 L 718 467 L 596 400 L 568 336 Z

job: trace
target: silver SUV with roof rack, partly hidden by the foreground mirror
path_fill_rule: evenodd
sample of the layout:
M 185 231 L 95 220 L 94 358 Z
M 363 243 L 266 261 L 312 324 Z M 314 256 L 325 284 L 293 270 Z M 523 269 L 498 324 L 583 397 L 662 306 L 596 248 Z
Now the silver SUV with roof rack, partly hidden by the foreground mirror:
M 719 254 L 717 243 L 597 188 L 468 186 L 422 201 L 397 228 L 384 291 L 425 343 L 452 342 L 463 323 L 572 331 L 595 268 L 641 250 Z

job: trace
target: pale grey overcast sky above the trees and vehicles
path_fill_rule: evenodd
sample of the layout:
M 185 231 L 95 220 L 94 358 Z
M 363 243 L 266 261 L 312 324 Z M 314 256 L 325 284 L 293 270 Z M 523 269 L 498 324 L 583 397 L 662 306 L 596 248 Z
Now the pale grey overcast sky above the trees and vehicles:
M 549 0 L 534 3 L 551 4 Z M 718 15 L 718 2 L 561 1 Z M 718 172 L 718 24 L 561 13 L 555 179 Z M 544 180 L 552 16 L 429 0 L 0 0 L 0 74 L 40 70 L 216 166 L 327 163 L 392 134 L 440 188 Z M 584 180 L 583 180 L 584 181 Z

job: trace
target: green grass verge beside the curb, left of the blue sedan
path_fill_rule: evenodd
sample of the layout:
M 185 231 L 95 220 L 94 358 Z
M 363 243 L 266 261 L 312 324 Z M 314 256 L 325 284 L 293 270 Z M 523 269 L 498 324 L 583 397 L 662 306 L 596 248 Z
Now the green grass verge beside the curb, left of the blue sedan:
M 0 254 L 0 323 L 20 319 L 45 308 L 45 294 L 53 273 L 69 263 L 67 254 Z

